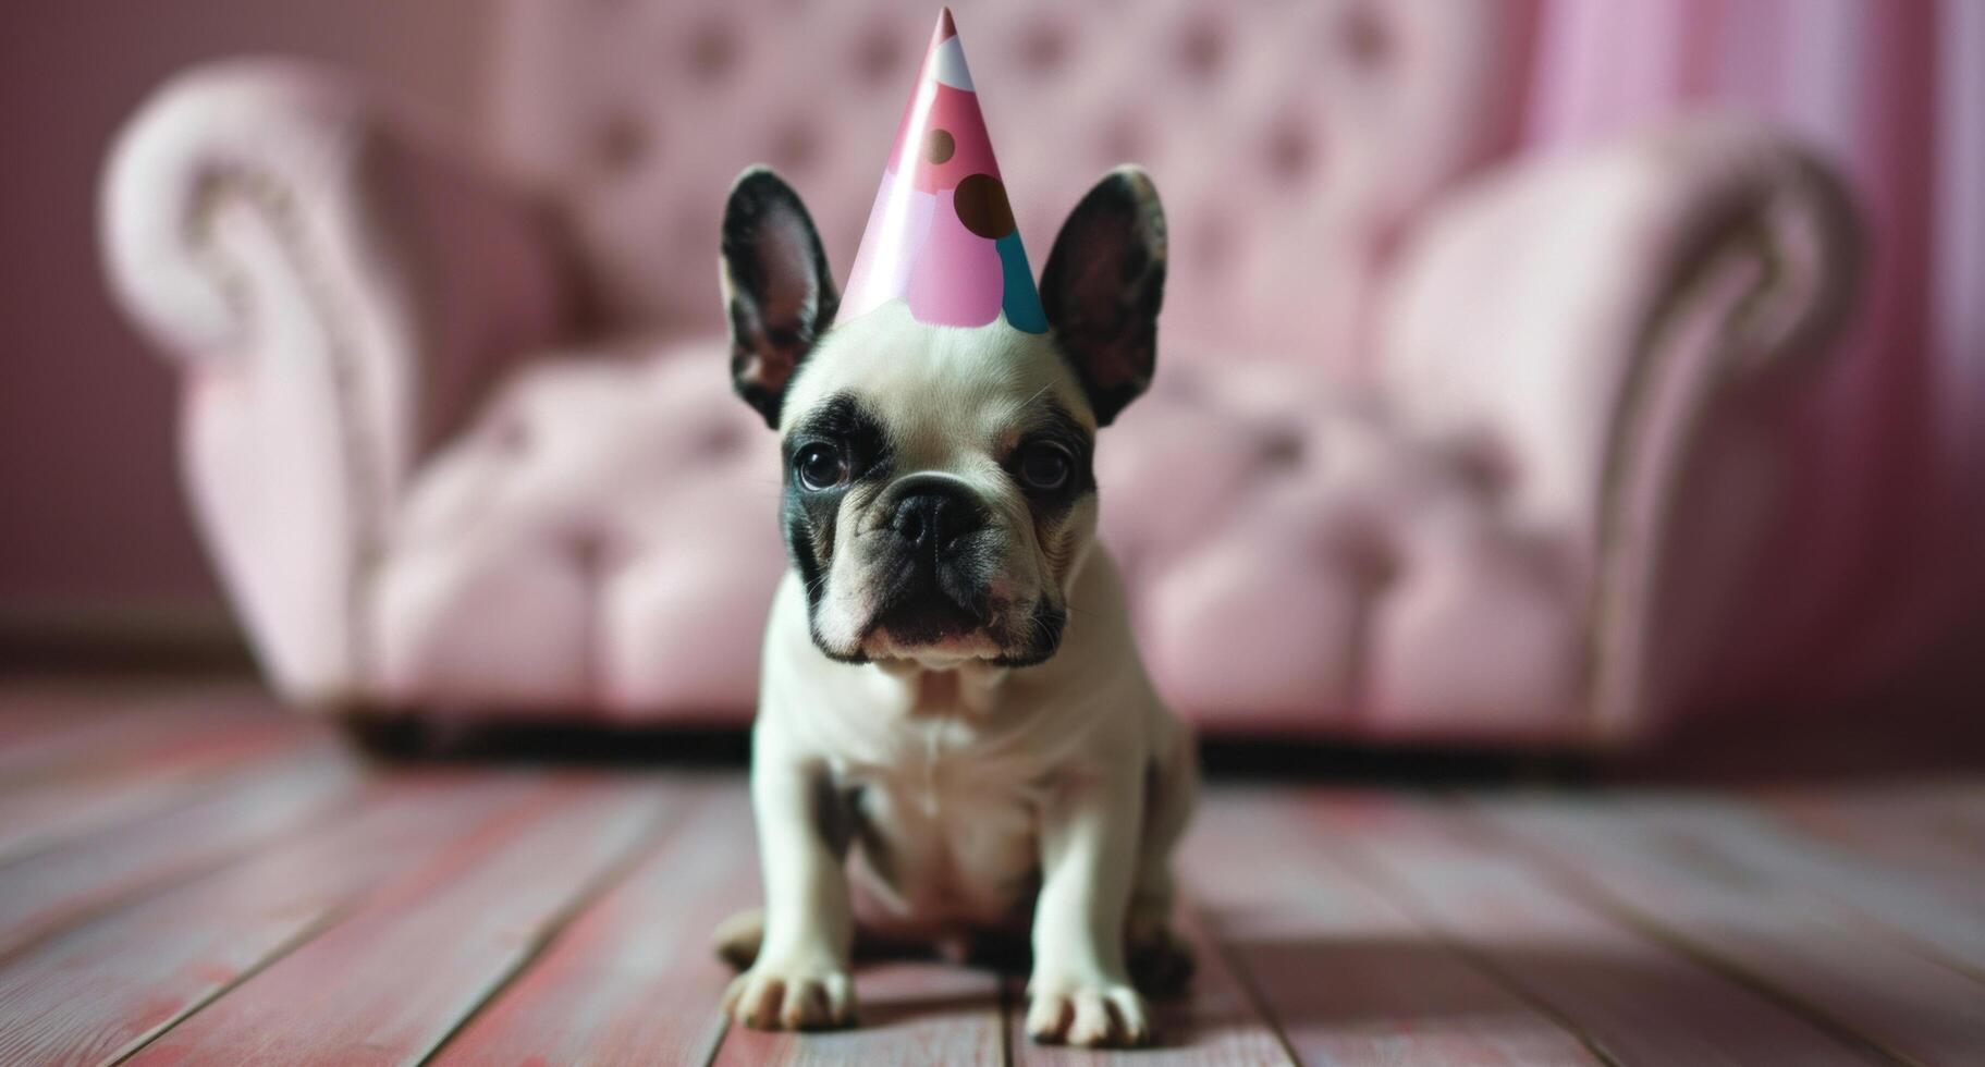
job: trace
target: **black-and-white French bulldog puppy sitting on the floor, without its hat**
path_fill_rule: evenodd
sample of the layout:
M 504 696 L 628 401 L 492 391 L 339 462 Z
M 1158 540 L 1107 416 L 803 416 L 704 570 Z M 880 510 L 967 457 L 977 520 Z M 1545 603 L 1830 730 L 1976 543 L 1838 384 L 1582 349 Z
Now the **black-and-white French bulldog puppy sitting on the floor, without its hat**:
M 858 940 L 1030 924 L 1028 1033 L 1076 1045 L 1147 1041 L 1137 980 L 1189 974 L 1169 914 L 1195 746 L 1137 656 L 1092 470 L 1151 379 L 1163 282 L 1157 194 L 1120 169 L 1054 244 L 1048 333 L 901 301 L 836 323 L 794 190 L 732 186 L 732 377 L 780 436 L 792 563 L 752 734 L 764 910 L 719 930 L 738 1021 L 852 1025 Z

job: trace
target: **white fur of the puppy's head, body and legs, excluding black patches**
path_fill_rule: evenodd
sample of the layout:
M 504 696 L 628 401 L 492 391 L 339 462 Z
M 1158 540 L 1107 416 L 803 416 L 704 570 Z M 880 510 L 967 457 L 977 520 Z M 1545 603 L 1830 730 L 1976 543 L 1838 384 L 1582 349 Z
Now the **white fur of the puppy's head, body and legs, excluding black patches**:
M 969 643 L 869 643 L 877 662 L 850 666 L 814 645 L 806 593 L 786 575 L 752 748 L 764 936 L 727 1004 L 752 1025 L 844 1023 L 858 922 L 941 936 L 1010 924 L 1032 904 L 1028 1029 L 1143 1041 L 1125 930 L 1161 932 L 1171 908 L 1169 857 L 1195 789 L 1191 736 L 1145 676 L 1116 565 L 1090 547 L 1094 504 L 1064 524 L 1078 551 L 1056 583 L 996 460 L 1042 395 L 1094 428 L 1082 389 L 1044 337 L 1002 323 L 925 327 L 885 305 L 830 333 L 792 383 L 782 434 L 842 391 L 883 415 L 895 478 L 943 472 L 973 486 L 1010 537 L 998 581 L 1058 597 L 1068 625 L 1038 666 L 992 666 Z M 846 534 L 869 522 L 861 506 L 850 494 L 840 516 L 820 609 L 826 641 L 860 637 L 871 611 Z M 850 833 L 860 894 L 844 869 Z

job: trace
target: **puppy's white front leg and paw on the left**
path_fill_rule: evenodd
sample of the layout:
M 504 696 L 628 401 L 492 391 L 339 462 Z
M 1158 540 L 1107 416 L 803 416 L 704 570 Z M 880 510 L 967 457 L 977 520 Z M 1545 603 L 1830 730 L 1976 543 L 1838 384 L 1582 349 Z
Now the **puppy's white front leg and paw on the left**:
M 760 754 L 750 793 L 764 869 L 764 940 L 750 970 L 725 992 L 725 1011 L 754 1029 L 854 1025 L 848 837 L 828 771 L 816 762 Z

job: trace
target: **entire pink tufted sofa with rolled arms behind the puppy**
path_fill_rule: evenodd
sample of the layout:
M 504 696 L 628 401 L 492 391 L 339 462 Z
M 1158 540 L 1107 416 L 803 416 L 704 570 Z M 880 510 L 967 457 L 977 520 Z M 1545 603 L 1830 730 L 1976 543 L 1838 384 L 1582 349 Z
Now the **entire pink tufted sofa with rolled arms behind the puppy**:
M 1114 8 L 1112 8 L 1114 10 Z M 1149 167 L 1157 385 L 1104 537 L 1207 730 L 1616 744 L 1691 700 L 1854 288 L 1832 177 L 1699 117 L 1511 159 L 1526 4 L 965 6 L 1022 230 Z M 343 714 L 740 722 L 782 565 L 717 218 L 846 272 L 925 4 L 506 8 L 488 151 L 286 61 L 191 71 L 103 186 L 272 682 Z

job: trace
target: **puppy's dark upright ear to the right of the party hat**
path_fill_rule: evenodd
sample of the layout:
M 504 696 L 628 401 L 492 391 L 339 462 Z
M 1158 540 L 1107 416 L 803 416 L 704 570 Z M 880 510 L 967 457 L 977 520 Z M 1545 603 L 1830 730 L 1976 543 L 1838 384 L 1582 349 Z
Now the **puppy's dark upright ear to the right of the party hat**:
M 1137 167 L 1096 182 L 1054 238 L 1040 303 L 1096 409 L 1112 418 L 1151 385 L 1165 299 L 1165 208 Z

